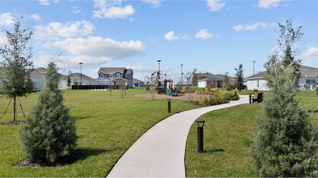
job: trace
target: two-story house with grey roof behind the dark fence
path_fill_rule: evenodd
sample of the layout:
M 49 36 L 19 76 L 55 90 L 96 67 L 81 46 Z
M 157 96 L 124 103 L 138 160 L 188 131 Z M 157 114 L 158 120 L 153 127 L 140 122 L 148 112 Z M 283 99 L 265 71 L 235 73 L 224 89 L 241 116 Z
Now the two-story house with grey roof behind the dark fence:
M 101 67 L 98 70 L 97 85 L 117 85 L 118 80 L 125 80 L 128 88 L 133 88 L 133 69 L 125 67 Z

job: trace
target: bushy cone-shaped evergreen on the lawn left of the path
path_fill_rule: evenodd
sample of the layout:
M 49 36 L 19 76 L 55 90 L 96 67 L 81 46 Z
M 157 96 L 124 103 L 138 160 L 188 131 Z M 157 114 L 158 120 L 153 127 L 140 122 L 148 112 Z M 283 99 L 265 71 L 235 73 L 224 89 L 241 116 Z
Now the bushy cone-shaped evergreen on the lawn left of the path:
M 54 163 L 76 146 L 75 122 L 63 104 L 59 79 L 58 67 L 49 62 L 43 89 L 38 93 L 31 114 L 25 116 L 20 127 L 22 149 L 28 160 Z

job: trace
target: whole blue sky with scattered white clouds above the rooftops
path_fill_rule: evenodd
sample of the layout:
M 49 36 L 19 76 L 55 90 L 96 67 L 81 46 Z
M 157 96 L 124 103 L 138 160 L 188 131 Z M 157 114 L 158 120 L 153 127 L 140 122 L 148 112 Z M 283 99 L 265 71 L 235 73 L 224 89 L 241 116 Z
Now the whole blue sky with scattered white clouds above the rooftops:
M 303 64 L 318 67 L 318 1 L 311 0 L 0 0 L 0 28 L 23 15 L 33 31 L 35 67 L 62 53 L 60 68 L 97 78 L 100 67 L 132 68 L 144 80 L 159 69 L 178 81 L 192 72 L 244 77 L 264 71 L 278 23 L 293 18 L 304 36 Z M 0 34 L 0 45 L 5 44 Z M 181 67 L 181 64 L 182 67 Z M 183 75 L 183 76 L 184 76 Z

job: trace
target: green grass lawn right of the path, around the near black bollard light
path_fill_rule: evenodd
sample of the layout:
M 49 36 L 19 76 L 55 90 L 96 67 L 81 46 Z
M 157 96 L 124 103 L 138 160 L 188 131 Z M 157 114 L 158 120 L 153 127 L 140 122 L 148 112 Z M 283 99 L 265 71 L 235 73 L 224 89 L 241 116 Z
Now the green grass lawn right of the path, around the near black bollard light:
M 313 91 L 297 95 L 303 106 L 312 112 L 318 124 L 318 96 Z M 244 104 L 212 111 L 204 119 L 204 152 L 197 153 L 197 123 L 193 123 L 186 145 L 187 177 L 258 177 L 248 144 L 256 131 L 255 116 L 262 104 Z

